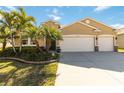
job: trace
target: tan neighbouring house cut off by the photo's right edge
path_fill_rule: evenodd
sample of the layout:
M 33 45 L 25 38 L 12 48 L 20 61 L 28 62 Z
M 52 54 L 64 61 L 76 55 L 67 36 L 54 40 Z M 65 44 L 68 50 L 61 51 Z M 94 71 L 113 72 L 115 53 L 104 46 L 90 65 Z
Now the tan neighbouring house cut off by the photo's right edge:
M 124 28 L 118 29 L 117 43 L 119 48 L 124 48 Z

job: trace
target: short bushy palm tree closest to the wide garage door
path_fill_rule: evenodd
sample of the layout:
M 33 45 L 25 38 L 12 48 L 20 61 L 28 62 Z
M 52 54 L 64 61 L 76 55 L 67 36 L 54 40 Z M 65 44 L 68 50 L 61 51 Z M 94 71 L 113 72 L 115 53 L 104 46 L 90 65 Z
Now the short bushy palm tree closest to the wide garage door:
M 46 50 L 49 51 L 51 47 L 51 41 L 62 40 L 62 35 L 59 29 L 54 27 L 43 26 L 44 37 L 46 39 Z

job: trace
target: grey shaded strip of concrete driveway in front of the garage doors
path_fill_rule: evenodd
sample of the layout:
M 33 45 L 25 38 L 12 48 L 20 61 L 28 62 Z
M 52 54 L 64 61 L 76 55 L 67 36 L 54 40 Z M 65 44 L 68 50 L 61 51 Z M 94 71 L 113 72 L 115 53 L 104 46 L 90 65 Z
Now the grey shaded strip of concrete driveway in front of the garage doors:
M 124 71 L 124 53 L 117 52 L 75 52 L 62 53 L 60 62 L 67 65 Z

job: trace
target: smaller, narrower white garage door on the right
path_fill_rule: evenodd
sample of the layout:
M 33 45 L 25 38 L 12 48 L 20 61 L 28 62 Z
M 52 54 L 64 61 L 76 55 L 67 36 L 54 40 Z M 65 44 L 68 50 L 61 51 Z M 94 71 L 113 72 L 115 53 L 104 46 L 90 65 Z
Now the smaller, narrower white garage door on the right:
M 113 36 L 98 37 L 99 51 L 113 51 Z

